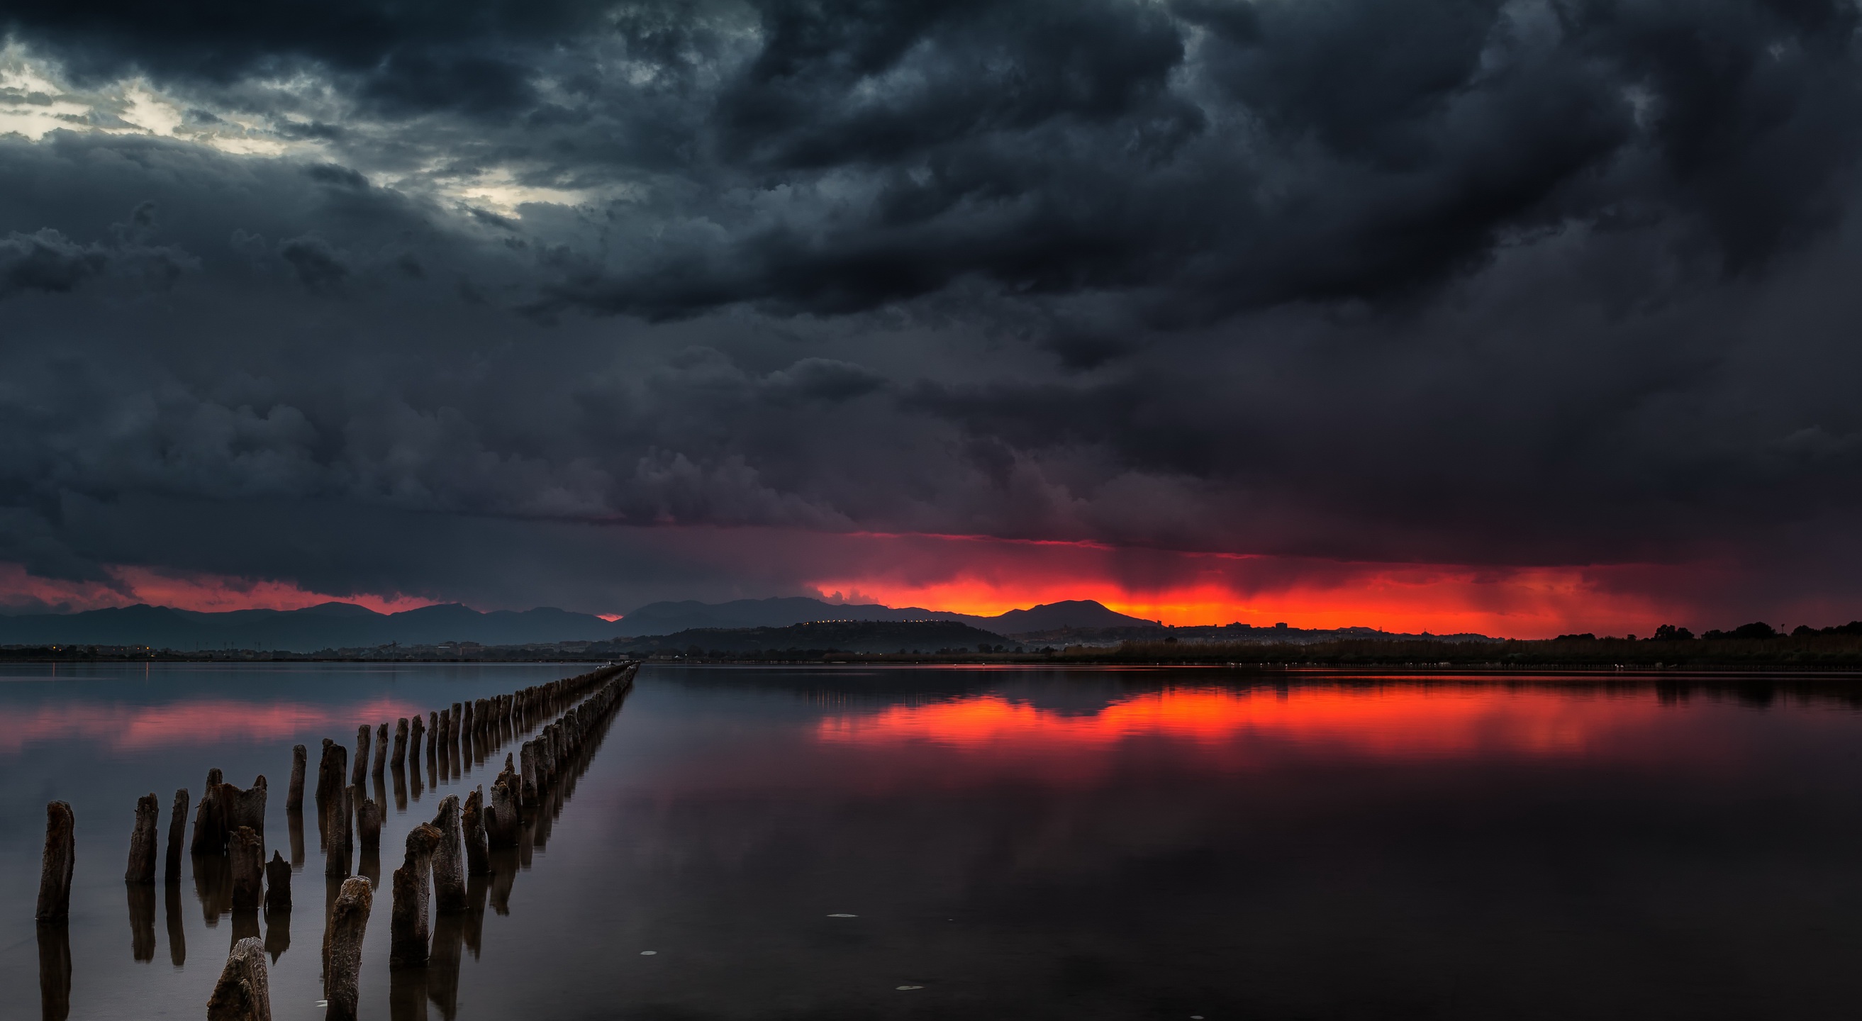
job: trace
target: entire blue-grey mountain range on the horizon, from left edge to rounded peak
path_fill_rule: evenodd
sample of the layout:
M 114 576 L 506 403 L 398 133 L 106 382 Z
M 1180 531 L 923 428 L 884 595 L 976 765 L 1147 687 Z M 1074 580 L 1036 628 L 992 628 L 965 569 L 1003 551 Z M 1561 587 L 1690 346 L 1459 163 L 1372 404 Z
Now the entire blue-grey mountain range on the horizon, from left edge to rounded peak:
M 994 635 L 1061 628 L 1151 626 L 1093 600 L 1067 600 L 974 617 L 875 604 L 845 606 L 806 596 L 726 604 L 655 602 L 620 620 L 540 607 L 480 613 L 460 604 L 423 606 L 402 613 L 328 602 L 304 609 L 235 609 L 207 613 L 168 606 L 125 606 L 82 613 L 0 617 L 0 645 L 147 645 L 181 652 L 203 648 L 372 648 L 380 645 L 549 645 L 614 637 L 668 635 L 695 628 L 786 628 L 816 620 L 950 620 Z

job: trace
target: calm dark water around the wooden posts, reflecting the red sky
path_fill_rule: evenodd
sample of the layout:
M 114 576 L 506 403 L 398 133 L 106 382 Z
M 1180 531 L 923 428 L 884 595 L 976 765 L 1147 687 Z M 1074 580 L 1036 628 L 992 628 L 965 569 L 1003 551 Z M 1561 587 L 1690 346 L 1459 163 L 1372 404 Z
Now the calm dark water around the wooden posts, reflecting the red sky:
M 32 922 L 52 797 L 78 818 L 71 1017 L 203 1017 L 236 935 L 289 935 L 274 1017 L 322 1017 L 315 812 L 296 911 L 266 932 L 220 915 L 192 872 L 138 904 L 121 879 L 136 797 L 160 797 L 166 835 L 177 786 L 197 799 L 209 766 L 263 771 L 268 850 L 292 857 L 292 743 L 315 786 L 324 736 L 566 673 L 0 673 L 0 1017 L 41 1015 L 41 950 L 61 950 Z M 436 926 L 425 973 L 389 974 L 378 894 L 363 1017 L 1778 1019 L 1862 1002 L 1856 687 L 1281 680 L 650 667 L 529 864 Z M 438 794 L 421 773 L 406 809 L 387 779 L 384 874 L 412 824 L 495 768 Z

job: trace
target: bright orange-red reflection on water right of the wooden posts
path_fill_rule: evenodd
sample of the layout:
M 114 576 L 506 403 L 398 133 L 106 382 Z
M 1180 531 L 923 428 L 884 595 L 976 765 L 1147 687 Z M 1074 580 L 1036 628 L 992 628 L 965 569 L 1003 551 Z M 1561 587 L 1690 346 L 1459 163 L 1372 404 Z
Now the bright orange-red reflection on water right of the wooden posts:
M 1495 686 L 1169 687 L 1095 712 L 1059 712 L 1002 695 L 890 706 L 827 717 L 817 738 L 855 745 L 929 742 L 963 751 L 1097 751 L 1141 738 L 1236 745 L 1266 738 L 1395 758 L 1477 751 L 1585 755 L 1626 730 L 1644 728 L 1661 712 L 1650 695 Z

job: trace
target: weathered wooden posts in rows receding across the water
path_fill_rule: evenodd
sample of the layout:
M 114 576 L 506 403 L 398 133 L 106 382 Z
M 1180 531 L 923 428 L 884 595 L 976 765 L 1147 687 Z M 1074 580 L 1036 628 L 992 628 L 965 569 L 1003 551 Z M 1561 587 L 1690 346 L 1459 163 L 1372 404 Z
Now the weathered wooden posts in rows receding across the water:
M 534 816 L 542 797 L 568 769 L 572 758 L 585 749 L 596 727 L 613 712 L 633 686 L 639 663 L 609 665 L 587 674 L 525 687 L 510 695 L 454 702 L 436 710 L 423 721 L 417 714 L 395 725 L 393 764 L 398 769 L 410 751 L 421 747 L 426 736 L 428 756 L 436 749 L 458 742 L 462 734 L 486 736 L 505 725 L 518 732 L 536 719 L 546 719 L 557 706 L 572 702 L 560 717 L 546 723 L 534 738 L 523 742 L 516 762 L 505 755 L 505 768 L 492 783 L 490 805 L 482 786 L 467 794 L 464 807 L 458 796 L 439 801 L 432 822 L 408 833 L 406 859 L 393 874 L 393 909 L 389 967 L 421 967 L 428 958 L 428 889 L 432 909 L 441 913 L 466 909 L 466 878 L 492 872 L 492 848 L 514 848 L 523 831 L 523 820 Z M 581 702 L 577 697 L 588 693 Z M 387 723 L 382 723 L 371 742 L 369 727 L 356 730 L 356 762 L 350 771 L 348 749 L 324 738 L 317 769 L 317 807 L 326 846 L 324 874 L 341 879 L 324 932 L 324 986 L 328 1019 L 354 1019 L 358 980 L 361 973 L 361 939 L 374 904 L 374 889 L 363 876 L 350 876 L 350 850 L 359 838 L 363 850 L 374 850 L 382 838 L 382 805 L 374 799 L 356 799 L 363 790 L 363 766 L 374 745 L 372 773 L 382 775 L 387 753 Z M 285 807 L 304 805 L 307 753 L 292 747 L 290 786 Z M 380 783 L 380 781 L 378 781 Z M 398 781 L 397 781 L 398 784 Z M 398 786 L 397 786 L 398 790 Z M 415 794 L 419 794 L 415 790 Z M 398 796 L 397 796 L 398 797 Z M 220 769 L 209 769 L 207 788 L 194 812 L 194 855 L 231 857 L 233 907 L 266 911 L 290 909 L 290 863 L 274 851 L 264 861 L 264 805 L 266 781 L 240 790 L 223 781 Z M 160 805 L 155 794 L 136 801 L 136 820 L 130 831 L 128 883 L 155 883 L 156 824 Z M 188 790 L 175 792 L 168 825 L 166 879 L 181 879 L 181 844 L 186 837 Z M 296 851 L 294 851 L 296 853 Z M 71 878 L 76 863 L 76 820 L 71 805 L 47 805 L 45 857 L 39 876 L 39 922 L 61 922 L 71 907 Z M 69 980 L 67 980 L 69 982 Z M 264 965 L 264 946 L 259 939 L 240 939 L 227 956 L 225 969 L 207 1001 L 209 1021 L 270 1021 L 270 987 Z

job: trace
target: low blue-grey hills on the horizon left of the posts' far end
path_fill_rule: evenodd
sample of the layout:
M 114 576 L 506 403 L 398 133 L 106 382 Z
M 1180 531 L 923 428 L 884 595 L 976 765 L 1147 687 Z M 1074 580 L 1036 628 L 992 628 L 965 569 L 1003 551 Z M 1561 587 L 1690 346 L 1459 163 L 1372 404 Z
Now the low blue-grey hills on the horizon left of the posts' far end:
M 376 645 L 536 645 L 605 641 L 618 626 L 555 607 L 479 613 L 460 604 L 402 613 L 330 602 L 304 609 L 201 613 L 166 606 L 125 606 L 84 613 L 0 617 L 0 645 L 151 645 L 156 648 L 363 648 Z

